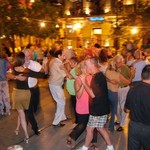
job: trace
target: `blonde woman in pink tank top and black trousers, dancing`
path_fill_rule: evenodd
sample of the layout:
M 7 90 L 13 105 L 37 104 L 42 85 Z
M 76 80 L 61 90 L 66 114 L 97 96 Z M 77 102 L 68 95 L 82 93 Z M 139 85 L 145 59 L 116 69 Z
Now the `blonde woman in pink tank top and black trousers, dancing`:
M 77 75 L 78 77 L 75 79 L 74 85 L 77 100 L 76 102 L 77 125 L 73 128 L 72 132 L 68 135 L 66 139 L 66 144 L 67 147 L 69 148 L 73 148 L 72 142 L 75 143 L 78 137 L 86 129 L 86 125 L 89 119 L 89 95 L 84 89 L 84 86 L 82 85 L 80 75 L 86 76 L 86 80 L 89 85 L 91 83 L 92 76 L 87 74 L 84 61 L 79 63 Z

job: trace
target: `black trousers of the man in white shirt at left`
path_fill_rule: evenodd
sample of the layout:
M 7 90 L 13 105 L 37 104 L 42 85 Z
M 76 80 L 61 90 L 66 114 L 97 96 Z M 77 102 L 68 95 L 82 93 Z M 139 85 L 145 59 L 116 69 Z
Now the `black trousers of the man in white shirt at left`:
M 28 110 L 25 110 L 26 119 L 27 122 L 31 124 L 32 129 L 38 130 L 37 121 L 34 116 L 35 110 L 37 110 L 38 104 L 39 104 L 39 88 L 31 88 L 31 98 L 30 98 L 30 104 Z

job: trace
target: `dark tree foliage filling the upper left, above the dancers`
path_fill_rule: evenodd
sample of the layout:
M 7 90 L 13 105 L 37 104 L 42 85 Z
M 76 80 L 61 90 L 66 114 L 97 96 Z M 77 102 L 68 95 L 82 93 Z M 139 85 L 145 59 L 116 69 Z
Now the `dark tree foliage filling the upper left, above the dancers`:
M 0 0 L 0 36 L 5 35 L 13 49 L 14 35 L 54 38 L 58 33 L 58 29 L 55 28 L 58 16 L 59 8 L 49 2 Z M 39 25 L 41 21 L 47 24 L 43 29 Z

